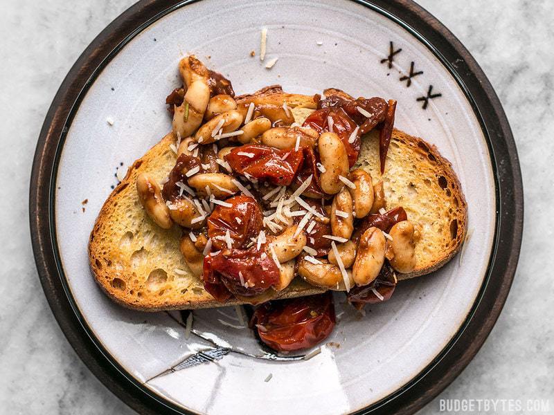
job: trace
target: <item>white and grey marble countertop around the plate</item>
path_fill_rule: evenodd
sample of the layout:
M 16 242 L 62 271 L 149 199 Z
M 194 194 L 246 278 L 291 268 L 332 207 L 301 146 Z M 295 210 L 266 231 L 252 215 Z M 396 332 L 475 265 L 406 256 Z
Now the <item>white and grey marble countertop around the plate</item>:
M 519 151 L 526 221 L 503 313 L 440 399 L 543 399 L 554 411 L 554 2 L 420 0 L 470 50 L 506 110 Z M 39 130 L 69 68 L 132 0 L 3 0 L 0 17 L 0 412 L 133 414 L 84 366 L 39 284 L 28 229 L 28 183 Z M 550 252 L 550 253 L 548 253 Z M 513 408 L 512 408 L 513 409 Z M 481 411 L 482 412 L 482 411 Z M 492 412 L 492 411 L 491 411 Z M 518 413 L 497 409 L 496 413 Z

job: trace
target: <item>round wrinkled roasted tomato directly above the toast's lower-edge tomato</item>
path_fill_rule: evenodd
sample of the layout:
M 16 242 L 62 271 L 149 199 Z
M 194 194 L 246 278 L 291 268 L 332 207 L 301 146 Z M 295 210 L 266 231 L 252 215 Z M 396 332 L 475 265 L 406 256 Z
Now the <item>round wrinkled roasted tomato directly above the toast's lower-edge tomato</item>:
M 231 248 L 245 248 L 262 230 L 260 205 L 249 196 L 233 196 L 226 199 L 226 203 L 231 203 L 231 207 L 217 205 L 208 217 L 208 237 L 214 248 L 229 248 L 225 241 L 225 234 L 229 231 Z

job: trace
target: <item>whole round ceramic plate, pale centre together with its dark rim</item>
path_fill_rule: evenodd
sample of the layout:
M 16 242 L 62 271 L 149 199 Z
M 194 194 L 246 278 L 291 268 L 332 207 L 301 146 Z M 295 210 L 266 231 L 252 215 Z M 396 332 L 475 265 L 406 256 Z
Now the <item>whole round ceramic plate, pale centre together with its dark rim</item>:
M 64 332 L 139 412 L 415 411 L 485 340 L 519 253 L 517 154 L 479 66 L 406 1 L 169 3 L 140 2 L 108 26 L 71 69 L 46 118 L 31 225 L 45 292 Z M 258 57 L 262 27 L 265 62 Z M 333 86 L 395 98 L 395 127 L 436 145 L 461 181 L 471 234 L 463 257 L 402 282 L 365 317 L 337 295 L 337 328 L 310 359 L 275 360 L 235 308 L 195 311 L 186 338 L 181 313 L 140 313 L 111 302 L 88 267 L 89 232 L 118 172 L 170 130 L 164 100 L 181 83 L 177 63 L 188 53 L 228 77 L 237 93 L 282 84 L 296 93 Z

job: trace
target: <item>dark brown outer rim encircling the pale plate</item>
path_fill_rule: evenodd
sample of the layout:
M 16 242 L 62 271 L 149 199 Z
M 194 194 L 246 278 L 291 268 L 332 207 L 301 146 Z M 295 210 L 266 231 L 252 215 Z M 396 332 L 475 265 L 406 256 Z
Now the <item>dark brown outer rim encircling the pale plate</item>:
M 133 378 L 102 347 L 80 314 L 64 277 L 53 201 L 66 132 L 103 68 L 142 30 L 198 0 L 142 0 L 91 42 L 66 75 L 44 120 L 30 179 L 30 230 L 35 262 L 48 303 L 80 358 L 116 396 L 141 414 L 193 414 Z M 523 230 L 523 187 L 510 125 L 487 77 L 461 42 L 411 0 L 352 0 L 402 26 L 427 46 L 454 76 L 472 105 L 488 142 L 497 190 L 497 221 L 488 270 L 465 322 L 445 348 L 406 385 L 355 414 L 413 414 L 461 373 L 485 342 L 512 284 Z

